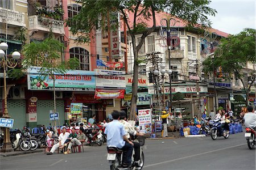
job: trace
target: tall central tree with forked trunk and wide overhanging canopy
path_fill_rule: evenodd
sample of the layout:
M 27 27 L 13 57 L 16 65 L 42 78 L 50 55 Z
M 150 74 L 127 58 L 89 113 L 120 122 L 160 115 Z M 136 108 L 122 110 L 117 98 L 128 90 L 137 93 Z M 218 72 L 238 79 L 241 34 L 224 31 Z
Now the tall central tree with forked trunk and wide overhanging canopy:
M 116 12 L 122 14 L 122 18 L 126 23 L 128 32 L 131 36 L 134 54 L 133 67 L 133 85 L 132 99 L 129 119 L 135 120 L 137 108 L 137 92 L 138 92 L 138 52 L 144 42 L 144 39 L 155 31 L 156 28 L 156 12 L 166 12 L 170 16 L 176 16 L 183 19 L 188 25 L 209 25 L 210 22 L 207 15 L 214 15 L 216 10 L 208 7 L 207 0 L 187 0 L 187 1 L 142 1 L 142 0 L 119 0 L 119 1 L 91 1 L 79 0 L 82 8 L 78 15 L 68 20 L 73 34 L 79 33 L 77 41 L 88 42 L 92 37 L 92 32 L 96 28 L 105 29 L 106 21 L 109 18 L 116 17 Z M 130 16 L 133 15 L 133 20 Z M 153 25 L 147 25 L 143 21 L 152 20 Z M 75 23 L 75 24 L 74 24 Z M 117 25 L 112 25 L 115 29 Z M 197 25 L 198 26 L 198 25 Z M 135 35 L 142 34 L 141 41 L 137 43 Z

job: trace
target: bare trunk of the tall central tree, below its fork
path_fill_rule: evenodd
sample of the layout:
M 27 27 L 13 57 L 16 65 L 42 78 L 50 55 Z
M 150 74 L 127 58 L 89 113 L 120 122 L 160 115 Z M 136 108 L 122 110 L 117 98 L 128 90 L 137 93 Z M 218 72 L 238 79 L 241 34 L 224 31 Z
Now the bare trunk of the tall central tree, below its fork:
M 133 46 L 133 54 L 134 54 L 133 85 L 131 86 L 132 96 L 131 96 L 131 108 L 130 108 L 129 120 L 135 120 L 136 108 L 137 108 L 139 65 L 137 62 L 138 52 L 137 52 L 136 46 Z

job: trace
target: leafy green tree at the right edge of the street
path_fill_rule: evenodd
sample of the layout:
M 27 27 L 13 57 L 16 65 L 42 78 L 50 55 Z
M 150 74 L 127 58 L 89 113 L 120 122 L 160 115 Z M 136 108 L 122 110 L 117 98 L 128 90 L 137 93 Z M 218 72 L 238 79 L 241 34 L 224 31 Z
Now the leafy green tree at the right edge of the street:
M 205 74 L 213 73 L 213 65 L 221 68 L 219 76 L 225 80 L 240 79 L 243 84 L 243 89 L 246 92 L 246 105 L 248 104 L 248 97 L 251 84 L 247 87 L 247 82 L 243 81 L 243 69 L 245 69 L 248 62 L 255 61 L 255 29 L 245 28 L 237 35 L 232 35 L 220 40 L 220 48 L 222 55 L 220 57 L 208 57 L 203 62 L 203 71 Z M 246 70 L 249 71 L 249 70 Z M 214 70 L 216 72 L 216 70 Z M 253 72 L 249 72 L 252 75 Z M 254 82 L 255 76 L 252 78 Z

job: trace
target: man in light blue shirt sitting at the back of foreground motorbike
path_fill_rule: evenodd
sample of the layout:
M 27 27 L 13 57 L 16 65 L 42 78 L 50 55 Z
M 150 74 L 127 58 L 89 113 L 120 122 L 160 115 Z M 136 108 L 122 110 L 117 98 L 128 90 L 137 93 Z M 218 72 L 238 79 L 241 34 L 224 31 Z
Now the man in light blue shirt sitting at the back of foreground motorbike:
M 128 167 L 131 164 L 131 155 L 133 154 L 133 142 L 126 137 L 125 126 L 119 120 L 119 112 L 113 111 L 113 121 L 110 122 L 104 131 L 107 137 L 107 145 L 115 146 L 123 151 L 123 166 Z

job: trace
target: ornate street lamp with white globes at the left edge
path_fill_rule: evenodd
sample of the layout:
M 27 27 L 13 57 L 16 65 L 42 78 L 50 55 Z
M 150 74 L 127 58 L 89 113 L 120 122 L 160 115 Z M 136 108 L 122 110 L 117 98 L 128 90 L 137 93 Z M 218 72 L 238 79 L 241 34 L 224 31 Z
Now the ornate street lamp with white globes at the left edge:
M 8 114 L 8 109 L 7 109 L 6 68 L 9 67 L 10 69 L 13 69 L 14 67 L 16 67 L 18 64 L 16 60 L 20 58 L 19 52 L 13 52 L 13 54 L 11 55 L 12 58 L 7 58 L 7 55 L 5 53 L 5 50 L 7 49 L 8 49 L 7 43 L 2 42 L 0 44 L 0 64 L 1 64 L 1 67 L 3 67 L 3 87 L 4 87 L 4 95 L 5 95 L 5 109 L 3 112 L 4 113 L 3 118 L 10 118 Z M 13 151 L 13 147 L 11 146 L 11 141 L 10 141 L 10 129 L 5 128 L 5 135 L 4 135 L 3 147 L 1 149 L 1 152 L 11 152 L 11 151 Z

